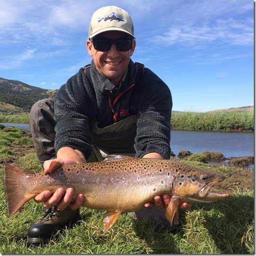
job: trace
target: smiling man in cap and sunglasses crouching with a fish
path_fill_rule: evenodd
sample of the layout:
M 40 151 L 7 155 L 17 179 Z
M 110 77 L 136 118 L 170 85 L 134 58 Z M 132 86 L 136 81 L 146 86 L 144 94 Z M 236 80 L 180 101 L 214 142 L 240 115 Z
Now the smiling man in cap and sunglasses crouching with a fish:
M 49 169 L 52 161 L 102 161 L 107 154 L 170 158 L 171 93 L 151 70 L 132 62 L 135 45 L 126 11 L 106 6 L 93 14 L 86 41 L 91 65 L 61 86 L 54 103 L 40 100 L 31 109 L 32 138 L 45 173 L 54 171 Z M 57 230 L 80 219 L 84 196 L 71 203 L 73 195 L 74 189 L 59 188 L 53 195 L 43 191 L 34 198 L 49 210 L 29 228 L 29 242 L 47 242 Z M 133 216 L 170 228 L 160 210 L 169 202 L 169 195 L 159 195 Z

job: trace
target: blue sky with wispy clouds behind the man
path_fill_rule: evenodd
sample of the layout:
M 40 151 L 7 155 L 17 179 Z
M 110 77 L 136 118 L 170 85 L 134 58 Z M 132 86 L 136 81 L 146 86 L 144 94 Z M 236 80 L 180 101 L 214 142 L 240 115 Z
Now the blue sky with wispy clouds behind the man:
M 0 77 L 58 89 L 91 61 L 90 17 L 107 5 L 130 13 L 132 60 L 169 86 L 173 110 L 254 104 L 252 0 L 0 0 Z

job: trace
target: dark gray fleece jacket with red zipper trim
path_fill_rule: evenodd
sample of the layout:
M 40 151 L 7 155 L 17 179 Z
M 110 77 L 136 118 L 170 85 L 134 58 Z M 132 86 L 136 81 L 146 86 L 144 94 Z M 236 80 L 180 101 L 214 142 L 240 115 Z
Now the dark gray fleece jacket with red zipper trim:
M 164 159 L 169 159 L 172 98 L 168 86 L 148 68 L 144 69 L 139 83 L 134 84 L 135 64 L 132 60 L 117 96 L 113 84 L 97 71 L 93 61 L 90 75 L 93 84 L 81 68 L 58 90 L 54 100 L 56 152 L 69 146 L 83 152 L 87 159 L 92 151 L 91 131 L 95 123 L 102 128 L 137 115 L 136 157 L 158 152 Z

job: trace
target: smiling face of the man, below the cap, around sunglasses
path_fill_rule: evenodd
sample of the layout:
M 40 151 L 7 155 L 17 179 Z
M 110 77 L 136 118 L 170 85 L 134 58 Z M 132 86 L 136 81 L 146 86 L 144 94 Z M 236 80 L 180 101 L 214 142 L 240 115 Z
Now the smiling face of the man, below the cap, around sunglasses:
M 120 31 L 108 31 L 100 33 L 95 38 L 120 39 L 127 38 L 127 34 Z M 120 84 L 125 71 L 129 65 L 130 57 L 135 49 L 135 41 L 132 42 L 132 48 L 128 51 L 117 51 L 115 44 L 112 44 L 109 51 L 98 51 L 94 48 L 91 41 L 86 41 L 87 50 L 93 57 L 97 70 L 103 76 L 107 77 L 115 86 Z

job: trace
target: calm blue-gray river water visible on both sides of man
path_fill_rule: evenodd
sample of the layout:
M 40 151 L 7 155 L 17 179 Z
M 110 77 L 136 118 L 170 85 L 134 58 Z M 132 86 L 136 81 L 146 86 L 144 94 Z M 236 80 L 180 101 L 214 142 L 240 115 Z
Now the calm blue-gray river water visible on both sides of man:
M 30 132 L 28 124 L 2 123 Z M 171 131 L 171 150 L 178 156 L 180 150 L 191 153 L 219 151 L 226 158 L 254 156 L 254 133 Z

